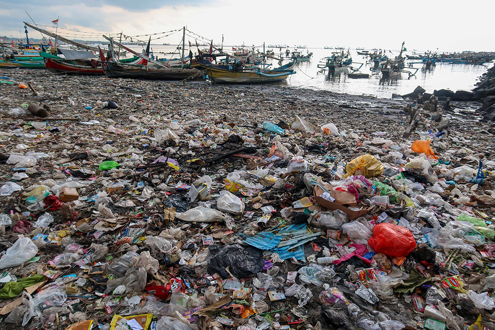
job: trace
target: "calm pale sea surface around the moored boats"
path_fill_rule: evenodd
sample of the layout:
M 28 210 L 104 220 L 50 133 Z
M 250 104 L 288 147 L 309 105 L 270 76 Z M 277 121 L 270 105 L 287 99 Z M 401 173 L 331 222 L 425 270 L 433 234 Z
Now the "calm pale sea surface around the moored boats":
M 141 51 L 141 46 L 131 46 L 132 49 Z M 164 45 L 152 45 L 152 50 L 155 55 L 159 57 L 165 57 L 163 53 L 173 52 L 176 47 L 164 46 Z M 206 48 L 206 47 L 200 47 Z M 231 51 L 231 47 L 224 47 L 226 51 Z M 258 48 L 260 51 L 263 48 Z M 265 48 L 268 50 L 268 47 Z M 192 48 L 193 52 L 197 52 L 196 47 Z M 273 49 L 275 57 L 280 58 L 279 48 Z M 290 48 L 291 51 L 294 48 Z M 470 91 L 475 87 L 475 83 L 479 77 L 487 71 L 488 68 L 493 66 L 493 63 L 486 63 L 484 65 L 466 65 L 466 64 L 449 64 L 449 63 L 437 63 L 432 66 L 431 70 L 426 70 L 422 63 L 412 64 L 412 67 L 419 68 L 416 75 L 407 79 L 407 74 L 402 74 L 402 79 L 383 81 L 381 80 L 381 73 L 373 73 L 370 71 L 369 65 L 363 65 L 359 72 L 368 73 L 370 77 L 368 79 L 351 79 L 348 78 L 346 72 L 337 73 L 335 75 L 329 75 L 328 70 L 322 71 L 317 65 L 323 57 L 331 56 L 334 49 L 324 48 L 307 48 L 299 49 L 304 55 L 307 52 L 312 52 L 313 55 L 309 62 L 297 63 L 295 68 L 297 74 L 289 77 L 287 82 L 281 83 L 284 85 L 294 86 L 296 88 L 309 88 L 314 90 L 325 90 L 337 93 L 348 93 L 355 95 L 373 95 L 378 97 L 390 98 L 393 93 L 407 94 L 412 92 L 416 86 L 421 86 L 426 89 L 427 92 L 433 92 L 434 90 L 449 89 L 452 91 L 466 90 Z M 176 50 L 177 51 L 177 50 Z M 285 57 L 285 48 L 283 51 L 283 64 L 289 60 Z M 347 51 L 347 50 L 346 50 Z M 189 47 L 186 46 L 185 54 L 189 53 Z M 410 54 L 410 52 L 406 52 Z M 350 49 L 353 62 L 364 63 L 366 58 L 358 55 L 355 49 Z M 394 57 L 398 54 L 398 51 L 393 54 L 389 53 L 389 57 Z M 174 57 L 179 57 L 178 54 Z M 272 67 L 278 67 L 277 60 L 270 60 Z M 324 60 L 323 60 L 324 61 Z M 406 66 L 409 62 L 419 61 L 406 61 Z M 352 66 L 357 68 L 360 64 L 353 63 Z

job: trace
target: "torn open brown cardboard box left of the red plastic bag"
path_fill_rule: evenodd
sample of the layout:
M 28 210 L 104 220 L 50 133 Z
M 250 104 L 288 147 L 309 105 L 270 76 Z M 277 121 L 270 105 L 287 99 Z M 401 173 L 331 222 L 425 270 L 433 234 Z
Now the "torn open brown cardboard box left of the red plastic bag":
M 325 190 L 321 189 L 319 186 L 315 186 L 313 190 L 313 195 L 314 195 L 314 200 L 326 207 L 327 209 L 331 211 L 335 210 L 341 210 L 347 214 L 349 217 L 349 220 L 353 220 L 357 217 L 362 216 L 363 214 L 367 213 L 370 208 L 365 208 L 361 209 L 359 211 L 352 211 L 349 209 L 350 206 L 357 207 L 356 203 L 356 196 L 354 194 L 346 192 L 346 191 L 336 191 L 333 190 L 335 186 L 333 185 L 324 185 L 325 189 L 327 189 L 330 192 L 331 198 L 334 198 L 334 201 L 330 201 L 323 197 L 321 197 L 322 194 L 326 194 Z

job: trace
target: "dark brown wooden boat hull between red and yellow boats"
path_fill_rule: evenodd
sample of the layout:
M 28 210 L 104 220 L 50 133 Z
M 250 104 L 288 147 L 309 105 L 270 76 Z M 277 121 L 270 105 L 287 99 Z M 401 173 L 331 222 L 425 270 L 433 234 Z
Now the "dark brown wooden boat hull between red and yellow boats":
M 196 69 L 146 67 L 142 65 L 119 65 L 108 63 L 105 74 L 111 78 L 130 78 L 148 80 L 183 80 L 198 73 Z

